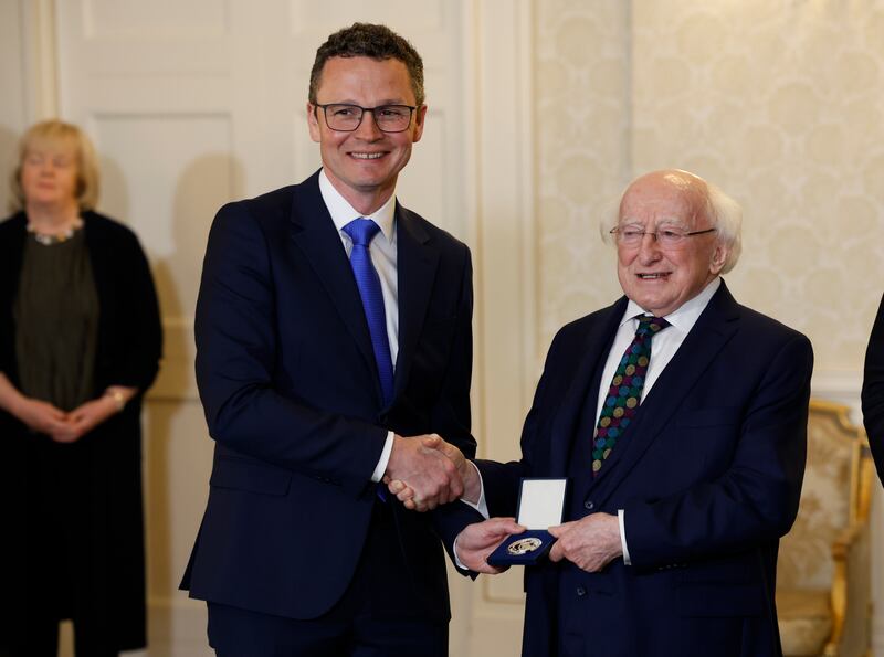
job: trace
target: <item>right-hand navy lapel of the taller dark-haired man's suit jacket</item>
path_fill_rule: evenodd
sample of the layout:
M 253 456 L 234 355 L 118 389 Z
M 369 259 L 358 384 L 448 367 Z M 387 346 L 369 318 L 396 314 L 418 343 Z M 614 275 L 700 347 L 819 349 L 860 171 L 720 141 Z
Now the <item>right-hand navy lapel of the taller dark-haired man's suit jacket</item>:
M 399 203 L 396 205 L 397 276 L 399 280 L 399 354 L 393 390 L 406 386 L 411 359 L 433 289 L 439 252 L 428 233 Z

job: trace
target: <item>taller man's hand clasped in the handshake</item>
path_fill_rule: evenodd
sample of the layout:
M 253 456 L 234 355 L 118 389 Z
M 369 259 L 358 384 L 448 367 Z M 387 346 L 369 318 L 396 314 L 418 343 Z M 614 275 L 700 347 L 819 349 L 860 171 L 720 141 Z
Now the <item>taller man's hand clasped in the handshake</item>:
M 448 445 L 438 434 L 393 436 L 393 447 L 383 480 L 387 484 L 401 481 L 410 489 L 410 505 L 406 504 L 408 508 L 430 510 L 441 504 L 460 499 L 463 495 L 459 467 L 440 449 L 442 444 Z M 460 449 L 457 453 L 460 454 Z

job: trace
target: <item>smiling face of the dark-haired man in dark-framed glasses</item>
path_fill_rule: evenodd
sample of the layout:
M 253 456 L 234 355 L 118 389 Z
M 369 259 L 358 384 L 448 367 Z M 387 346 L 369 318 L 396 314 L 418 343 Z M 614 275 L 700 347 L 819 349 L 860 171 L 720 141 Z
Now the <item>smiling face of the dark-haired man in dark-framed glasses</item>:
M 332 57 L 323 67 L 316 94 L 319 105 L 346 103 L 361 107 L 415 105 L 408 68 L 399 60 Z M 332 130 L 323 110 L 307 104 L 311 137 L 319 142 L 323 168 L 335 189 L 357 211 L 370 214 L 392 195 L 399 171 L 411 157 L 411 145 L 423 134 L 427 106 L 414 110 L 402 133 L 382 133 L 370 113 L 352 133 Z

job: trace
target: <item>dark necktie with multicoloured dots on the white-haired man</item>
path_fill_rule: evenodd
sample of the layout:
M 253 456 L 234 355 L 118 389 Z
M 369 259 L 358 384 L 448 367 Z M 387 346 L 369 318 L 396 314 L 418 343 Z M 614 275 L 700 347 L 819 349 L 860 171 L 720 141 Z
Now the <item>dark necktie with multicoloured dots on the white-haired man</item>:
M 611 454 L 639 409 L 648 363 L 651 361 L 651 340 L 667 326 L 670 322 L 662 317 L 639 316 L 635 337 L 617 365 L 592 436 L 593 477 L 599 474 L 602 462 Z

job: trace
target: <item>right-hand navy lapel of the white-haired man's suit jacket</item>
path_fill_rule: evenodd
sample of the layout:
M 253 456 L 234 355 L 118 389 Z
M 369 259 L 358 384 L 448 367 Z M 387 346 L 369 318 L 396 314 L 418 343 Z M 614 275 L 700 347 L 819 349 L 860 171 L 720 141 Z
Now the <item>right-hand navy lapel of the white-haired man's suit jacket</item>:
M 739 306 L 723 280 L 678 351 L 661 372 L 648 399 L 642 401 L 622 441 L 622 449 L 611 453 L 596 477 L 594 486 L 603 486 L 604 495 L 614 490 L 672 416 L 681 410 L 684 398 L 737 331 L 738 319 Z

